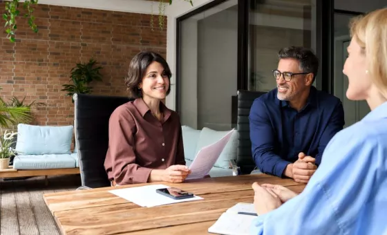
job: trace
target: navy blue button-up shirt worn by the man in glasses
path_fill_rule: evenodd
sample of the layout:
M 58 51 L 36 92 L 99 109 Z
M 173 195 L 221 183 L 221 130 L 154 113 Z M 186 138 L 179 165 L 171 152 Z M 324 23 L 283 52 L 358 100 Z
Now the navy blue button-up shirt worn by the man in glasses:
M 328 142 L 343 129 L 343 105 L 339 98 L 311 86 L 307 103 L 296 111 L 277 98 L 275 88 L 254 100 L 249 124 L 256 165 L 263 173 L 281 177 L 300 152 L 320 164 Z

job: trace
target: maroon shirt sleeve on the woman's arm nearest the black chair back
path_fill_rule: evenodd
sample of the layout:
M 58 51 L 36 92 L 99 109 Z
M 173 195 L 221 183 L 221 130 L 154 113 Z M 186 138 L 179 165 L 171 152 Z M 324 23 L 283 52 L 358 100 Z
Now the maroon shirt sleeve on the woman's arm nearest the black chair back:
M 109 120 L 106 162 L 118 185 L 147 182 L 152 169 L 135 163 L 135 121 L 127 111 L 116 109 Z M 105 162 L 105 167 L 106 167 Z

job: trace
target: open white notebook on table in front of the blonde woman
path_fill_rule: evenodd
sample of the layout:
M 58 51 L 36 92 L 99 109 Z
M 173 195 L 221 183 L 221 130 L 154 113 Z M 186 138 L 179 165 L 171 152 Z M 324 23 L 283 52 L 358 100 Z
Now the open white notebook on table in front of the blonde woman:
M 254 205 L 250 203 L 238 203 L 234 207 L 227 209 L 227 212 L 223 213 L 214 225 L 209 227 L 208 232 L 225 235 L 250 234 L 252 222 L 256 216 L 247 216 L 238 214 L 238 212 L 256 213 L 252 208 L 254 208 Z

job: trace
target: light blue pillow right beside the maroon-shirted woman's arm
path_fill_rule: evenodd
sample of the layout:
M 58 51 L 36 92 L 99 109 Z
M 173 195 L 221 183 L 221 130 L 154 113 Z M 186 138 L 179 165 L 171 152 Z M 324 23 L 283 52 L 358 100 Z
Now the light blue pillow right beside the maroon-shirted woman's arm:
M 196 144 L 198 144 L 200 130 L 191 128 L 190 126 L 182 126 L 182 142 L 184 145 L 185 159 L 193 161 L 196 154 Z

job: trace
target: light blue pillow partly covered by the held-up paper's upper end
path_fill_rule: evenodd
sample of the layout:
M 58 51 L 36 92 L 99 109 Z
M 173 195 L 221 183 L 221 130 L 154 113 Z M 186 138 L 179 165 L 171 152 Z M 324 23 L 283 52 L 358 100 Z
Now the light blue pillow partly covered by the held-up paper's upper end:
M 204 127 L 202 129 L 202 132 L 200 133 L 200 138 L 196 146 L 196 153 L 198 153 L 198 151 L 203 147 L 209 146 L 210 144 L 214 144 L 214 142 L 217 142 L 218 140 L 223 138 L 225 135 L 227 135 L 227 133 L 229 133 L 229 131 L 214 131 L 212 129 Z M 229 160 L 236 159 L 237 145 L 238 145 L 238 136 L 236 131 L 234 130 L 231 137 L 229 138 L 229 142 L 227 142 L 222 153 L 220 153 L 218 160 L 216 160 L 214 167 L 221 167 L 221 168 L 228 169 Z

